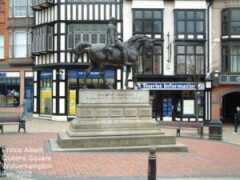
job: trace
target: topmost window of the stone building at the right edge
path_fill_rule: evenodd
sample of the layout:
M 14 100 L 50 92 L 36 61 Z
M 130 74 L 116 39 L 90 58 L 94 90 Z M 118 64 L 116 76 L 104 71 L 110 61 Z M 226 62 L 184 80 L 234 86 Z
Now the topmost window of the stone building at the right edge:
M 222 35 L 240 34 L 240 9 L 222 11 Z

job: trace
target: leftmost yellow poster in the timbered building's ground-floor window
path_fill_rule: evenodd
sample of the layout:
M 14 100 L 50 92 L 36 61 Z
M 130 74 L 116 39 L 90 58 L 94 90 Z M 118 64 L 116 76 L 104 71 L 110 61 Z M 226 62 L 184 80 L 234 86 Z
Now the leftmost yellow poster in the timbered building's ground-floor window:
M 40 113 L 52 114 L 52 90 L 50 88 L 41 90 Z

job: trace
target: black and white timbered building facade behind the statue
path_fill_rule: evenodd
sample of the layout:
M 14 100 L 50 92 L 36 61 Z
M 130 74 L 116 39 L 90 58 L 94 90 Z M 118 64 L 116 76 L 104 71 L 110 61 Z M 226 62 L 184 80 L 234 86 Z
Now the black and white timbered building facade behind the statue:
M 139 56 L 135 87 L 125 68 L 106 70 L 107 81 L 115 89 L 150 90 L 158 120 L 210 120 L 207 7 L 205 0 L 33 0 L 34 116 L 75 116 L 89 60 L 85 54 L 74 62 L 71 49 L 79 41 L 105 43 L 114 17 L 119 39 L 145 34 L 158 41 L 152 58 Z M 102 84 L 94 70 L 88 88 Z

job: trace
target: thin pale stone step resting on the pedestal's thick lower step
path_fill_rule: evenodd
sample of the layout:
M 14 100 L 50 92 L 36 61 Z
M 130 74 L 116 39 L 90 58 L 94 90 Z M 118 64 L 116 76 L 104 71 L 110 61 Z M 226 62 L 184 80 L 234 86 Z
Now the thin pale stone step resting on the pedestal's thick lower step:
M 160 129 L 153 129 L 153 130 L 121 130 L 121 131 L 85 131 L 85 132 L 73 132 L 73 131 L 67 131 L 66 132 L 68 136 L 70 137 L 100 137 L 100 136 L 120 136 L 120 135 L 126 135 L 126 136 L 131 136 L 131 135 L 159 135 L 159 134 L 164 134 L 161 132 Z

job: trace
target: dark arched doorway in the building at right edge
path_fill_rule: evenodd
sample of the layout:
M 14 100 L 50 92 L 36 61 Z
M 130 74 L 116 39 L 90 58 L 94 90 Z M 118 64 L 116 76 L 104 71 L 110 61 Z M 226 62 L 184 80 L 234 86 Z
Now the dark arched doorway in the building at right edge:
M 234 114 L 236 107 L 240 106 L 240 92 L 233 92 L 223 96 L 222 101 L 222 117 L 223 123 L 234 122 Z

